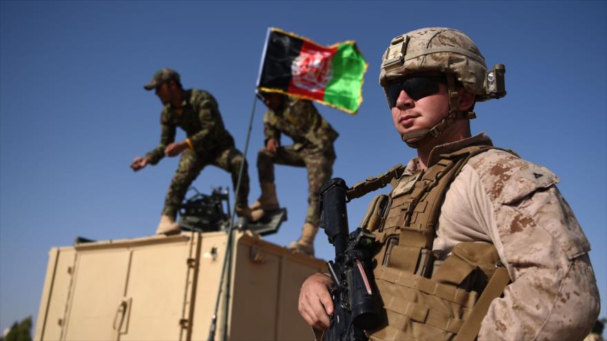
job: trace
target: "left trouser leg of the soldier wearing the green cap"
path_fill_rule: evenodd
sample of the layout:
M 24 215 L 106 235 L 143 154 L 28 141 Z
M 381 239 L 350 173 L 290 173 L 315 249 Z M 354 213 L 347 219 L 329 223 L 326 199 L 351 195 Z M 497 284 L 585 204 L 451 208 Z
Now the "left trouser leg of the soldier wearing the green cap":
M 168 187 L 168 192 L 166 192 L 164 209 L 162 211 L 163 215 L 175 220 L 177 211 L 179 211 L 183 198 L 186 197 L 188 188 L 192 185 L 192 182 L 197 178 L 205 165 L 206 164 L 203 163 L 200 156 L 195 152 L 186 149 L 181 153 L 179 166 Z

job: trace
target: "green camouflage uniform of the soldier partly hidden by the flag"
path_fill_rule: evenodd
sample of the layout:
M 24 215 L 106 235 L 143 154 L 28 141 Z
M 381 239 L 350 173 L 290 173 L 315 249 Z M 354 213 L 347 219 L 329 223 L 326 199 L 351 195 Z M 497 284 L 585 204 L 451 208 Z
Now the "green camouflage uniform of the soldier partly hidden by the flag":
M 318 195 L 330 179 L 335 162 L 333 141 L 339 136 L 320 116 L 310 101 L 286 97 L 282 110 L 263 115 L 264 147 L 257 156 L 259 183 L 274 182 L 274 164 L 308 169 L 308 212 L 306 222 L 318 225 Z M 270 138 L 280 141 L 286 134 L 294 144 L 279 147 L 276 154 L 266 150 Z

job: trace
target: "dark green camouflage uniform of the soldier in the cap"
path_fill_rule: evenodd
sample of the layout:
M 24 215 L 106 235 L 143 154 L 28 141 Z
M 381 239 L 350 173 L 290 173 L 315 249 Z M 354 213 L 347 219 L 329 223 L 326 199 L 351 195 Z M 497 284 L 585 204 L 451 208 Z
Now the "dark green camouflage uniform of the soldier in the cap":
M 242 153 L 235 148 L 234 138 L 223 126 L 217 101 L 203 90 L 183 92 L 182 110 L 178 112 L 170 104 L 160 115 L 161 137 L 159 145 L 146 156 L 152 165 L 164 157 L 164 149 L 175 142 L 177 127 L 188 135 L 188 145 L 181 153 L 179 167 L 171 181 L 162 214 L 175 218 L 188 187 L 207 165 L 225 169 L 232 175 L 232 185 L 236 189 Z M 246 205 L 249 193 L 248 169 L 245 161 L 237 202 Z

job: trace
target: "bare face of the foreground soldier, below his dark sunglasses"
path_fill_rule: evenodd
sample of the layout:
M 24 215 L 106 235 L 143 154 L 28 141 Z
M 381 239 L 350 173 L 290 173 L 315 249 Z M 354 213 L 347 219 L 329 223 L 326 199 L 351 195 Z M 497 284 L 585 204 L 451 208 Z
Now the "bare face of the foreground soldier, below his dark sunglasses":
M 419 129 L 430 129 L 439 123 L 449 112 L 449 95 L 447 86 L 439 83 L 435 94 L 421 99 L 412 99 L 405 90 L 401 90 L 392 107 L 392 121 L 397 132 L 403 135 Z M 419 140 L 419 138 L 417 138 Z M 411 140 L 409 142 L 415 142 Z

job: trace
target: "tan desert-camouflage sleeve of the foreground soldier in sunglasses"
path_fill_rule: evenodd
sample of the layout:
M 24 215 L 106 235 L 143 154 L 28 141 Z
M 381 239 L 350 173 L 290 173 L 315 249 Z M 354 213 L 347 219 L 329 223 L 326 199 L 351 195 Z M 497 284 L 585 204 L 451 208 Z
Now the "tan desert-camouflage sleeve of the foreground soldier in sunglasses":
M 590 245 L 548 169 L 506 152 L 468 164 L 486 193 L 486 229 L 513 282 L 478 340 L 581 340 L 599 313 Z

